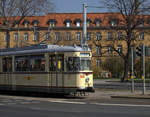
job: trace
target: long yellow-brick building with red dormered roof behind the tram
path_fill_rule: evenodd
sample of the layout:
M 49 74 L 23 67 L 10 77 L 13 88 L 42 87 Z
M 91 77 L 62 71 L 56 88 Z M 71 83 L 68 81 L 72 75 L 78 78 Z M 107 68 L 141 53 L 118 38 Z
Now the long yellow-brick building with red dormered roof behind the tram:
M 114 38 L 118 39 L 115 47 L 120 52 L 126 51 L 126 45 L 122 40 L 125 33 L 120 23 L 121 15 L 119 13 L 88 13 L 87 14 L 87 39 L 86 43 L 93 53 L 93 65 L 100 66 L 106 57 L 118 56 L 112 51 Z M 10 21 L 11 22 L 11 21 Z M 12 21 L 11 23 L 14 23 Z M 114 28 L 118 28 L 116 31 Z M 140 20 L 138 41 L 135 43 L 144 43 L 150 46 L 149 16 Z M 147 33 L 145 32 L 147 31 Z M 83 32 L 83 15 L 81 13 L 49 13 L 45 16 L 25 17 L 20 23 L 15 23 L 9 29 L 10 47 L 30 46 L 34 44 L 47 43 L 58 45 L 80 45 Z M 6 28 L 3 20 L 0 21 L 0 48 L 6 47 Z

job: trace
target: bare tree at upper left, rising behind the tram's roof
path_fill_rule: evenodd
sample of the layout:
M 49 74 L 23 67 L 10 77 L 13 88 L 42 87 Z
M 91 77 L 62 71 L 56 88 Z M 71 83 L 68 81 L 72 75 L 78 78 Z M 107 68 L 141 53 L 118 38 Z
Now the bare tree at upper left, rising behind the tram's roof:
M 44 15 L 54 8 L 50 0 L 0 0 L 0 16 L 6 31 L 6 48 L 10 47 L 10 30 L 27 16 Z

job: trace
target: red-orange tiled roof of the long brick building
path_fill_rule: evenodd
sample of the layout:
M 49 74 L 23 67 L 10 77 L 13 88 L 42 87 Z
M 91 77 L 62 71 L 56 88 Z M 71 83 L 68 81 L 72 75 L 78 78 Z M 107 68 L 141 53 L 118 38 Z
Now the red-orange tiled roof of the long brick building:
M 150 21 L 150 15 L 144 15 L 144 25 L 148 26 L 148 22 Z M 11 19 L 11 18 L 10 18 Z M 13 19 L 13 18 L 12 18 Z M 19 17 L 18 17 L 19 19 Z M 17 18 L 15 20 L 18 20 Z M 111 19 L 118 19 L 118 25 L 121 25 L 120 21 L 123 21 L 123 18 L 120 13 L 87 13 L 87 19 L 90 19 L 91 22 L 90 26 L 95 26 L 95 22 L 99 21 L 102 23 L 102 26 L 110 26 L 109 21 Z M 48 13 L 44 16 L 27 16 L 24 20 L 21 21 L 20 27 L 24 26 L 25 22 L 28 22 L 30 25 L 32 25 L 33 22 L 37 22 L 38 26 L 40 27 L 47 27 L 48 23 L 54 22 L 56 24 L 56 27 L 64 27 L 64 21 L 73 22 L 72 27 L 75 27 L 75 22 L 82 21 L 81 26 L 83 25 L 83 14 L 82 13 Z M 0 18 L 0 25 L 3 25 L 4 23 L 3 18 Z M 10 21 L 10 23 L 14 23 L 13 21 Z

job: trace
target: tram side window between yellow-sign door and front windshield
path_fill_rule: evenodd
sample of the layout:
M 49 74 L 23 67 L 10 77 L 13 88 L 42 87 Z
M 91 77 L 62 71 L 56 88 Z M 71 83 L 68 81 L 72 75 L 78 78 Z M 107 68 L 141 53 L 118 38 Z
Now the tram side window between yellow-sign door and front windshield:
M 80 58 L 78 57 L 69 57 L 66 64 L 67 64 L 67 71 L 80 70 Z

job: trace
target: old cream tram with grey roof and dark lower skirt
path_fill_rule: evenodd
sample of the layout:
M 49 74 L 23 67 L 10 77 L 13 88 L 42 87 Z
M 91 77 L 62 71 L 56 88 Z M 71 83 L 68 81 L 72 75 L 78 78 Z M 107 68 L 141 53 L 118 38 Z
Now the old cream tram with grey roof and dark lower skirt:
M 94 92 L 91 51 L 38 45 L 0 50 L 0 90 L 47 93 Z

